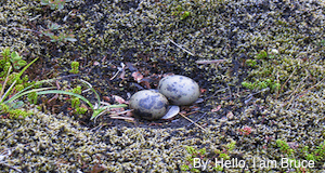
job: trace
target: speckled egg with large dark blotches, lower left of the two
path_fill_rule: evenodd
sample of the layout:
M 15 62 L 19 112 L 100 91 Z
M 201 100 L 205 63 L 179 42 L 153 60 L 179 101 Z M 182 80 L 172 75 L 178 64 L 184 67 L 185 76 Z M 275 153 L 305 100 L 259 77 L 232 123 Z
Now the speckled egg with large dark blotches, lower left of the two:
M 144 119 L 159 119 L 167 112 L 168 99 L 155 90 L 142 90 L 130 98 L 130 108 Z

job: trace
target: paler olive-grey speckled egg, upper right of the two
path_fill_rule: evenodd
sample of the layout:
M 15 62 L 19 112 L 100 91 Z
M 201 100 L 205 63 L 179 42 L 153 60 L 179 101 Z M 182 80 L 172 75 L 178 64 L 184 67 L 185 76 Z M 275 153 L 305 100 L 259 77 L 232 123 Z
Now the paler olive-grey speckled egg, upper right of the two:
M 190 105 L 199 97 L 199 86 L 191 78 L 173 75 L 159 81 L 158 91 L 173 105 Z

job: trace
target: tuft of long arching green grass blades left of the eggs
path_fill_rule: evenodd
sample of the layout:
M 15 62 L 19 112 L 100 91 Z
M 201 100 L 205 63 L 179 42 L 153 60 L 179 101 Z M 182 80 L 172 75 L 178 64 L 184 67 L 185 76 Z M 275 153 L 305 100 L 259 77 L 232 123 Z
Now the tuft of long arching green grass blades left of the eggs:
M 11 56 L 9 56 L 11 55 Z M 89 105 L 89 107 L 93 110 L 93 114 L 91 116 L 91 120 L 96 118 L 101 112 L 103 112 L 106 109 L 109 108 L 118 108 L 118 107 L 127 107 L 127 105 L 125 104 L 120 104 L 120 105 L 109 105 L 109 106 L 101 106 L 101 99 L 99 94 L 96 93 L 96 91 L 92 88 L 92 85 L 83 80 L 80 80 L 81 83 L 83 83 L 87 88 L 89 88 L 92 92 L 94 92 L 95 97 L 96 97 L 96 104 L 93 105 L 89 99 L 87 99 L 86 97 L 83 97 L 81 94 L 81 86 L 77 86 L 75 90 L 70 91 L 62 91 L 62 90 L 53 90 L 54 88 L 39 88 L 39 89 L 32 89 L 34 86 L 38 86 L 41 85 L 42 83 L 49 83 L 51 81 L 55 81 L 57 79 L 49 79 L 49 80 L 42 80 L 42 81 L 36 81 L 32 82 L 32 84 L 28 85 L 28 86 L 22 86 L 16 84 L 17 81 L 21 80 L 22 75 L 24 74 L 24 71 L 26 71 L 26 69 L 34 64 L 38 58 L 35 58 L 32 62 L 30 62 L 29 64 L 27 64 L 18 74 L 14 74 L 13 76 L 13 71 L 12 68 L 16 66 L 16 68 L 21 68 L 24 66 L 24 62 L 23 63 L 18 63 L 20 59 L 17 58 L 21 56 L 14 52 L 14 53 L 10 53 L 9 49 L 5 49 L 2 52 L 2 58 L 0 61 L 2 61 L 2 64 L 6 67 L 4 68 L 4 77 L 0 78 L 1 81 L 3 81 L 2 85 L 1 85 L 1 91 L 0 91 L 0 114 L 9 114 L 10 117 L 12 118 L 25 118 L 26 116 L 30 115 L 30 112 L 26 112 L 24 110 L 18 110 L 20 107 L 22 107 L 24 105 L 24 103 L 22 101 L 18 101 L 21 97 L 28 95 L 28 99 L 31 101 L 32 103 L 37 102 L 37 96 L 38 95 L 43 95 L 43 94 L 65 94 L 65 95 L 70 95 L 74 98 L 78 99 L 75 103 L 75 106 L 78 109 L 79 112 L 86 112 L 86 108 L 84 107 L 79 107 L 79 104 L 77 102 L 80 102 L 79 99 L 83 101 L 84 103 L 87 103 Z M 4 59 L 4 61 L 3 61 Z M 12 61 L 14 59 L 14 61 Z M 4 63 L 3 63 L 4 62 Z M 11 79 L 11 84 L 9 86 L 9 80 Z M 21 88 L 17 90 L 17 88 Z M 15 91 L 15 92 L 13 92 Z M 21 115 L 21 116 L 18 116 Z

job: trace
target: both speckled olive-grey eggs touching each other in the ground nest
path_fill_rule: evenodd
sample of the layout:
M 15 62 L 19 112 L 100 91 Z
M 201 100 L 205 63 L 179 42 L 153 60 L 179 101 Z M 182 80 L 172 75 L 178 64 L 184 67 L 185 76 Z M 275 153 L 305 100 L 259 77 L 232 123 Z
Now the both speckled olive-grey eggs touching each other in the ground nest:
M 154 120 L 166 115 L 169 102 L 173 105 L 190 105 L 198 97 L 199 86 L 193 79 L 172 75 L 159 81 L 158 90 L 142 90 L 133 94 L 129 104 L 136 116 Z

